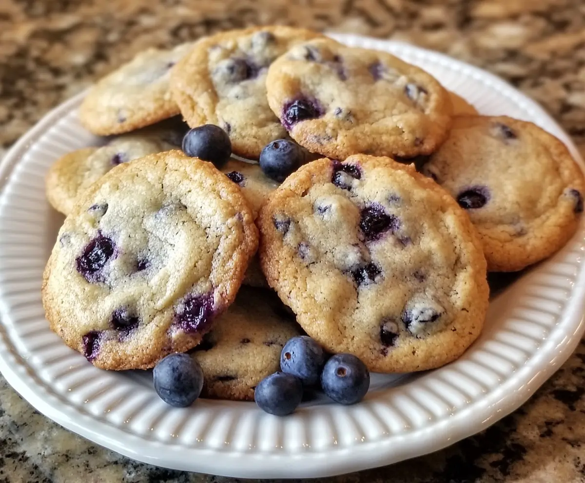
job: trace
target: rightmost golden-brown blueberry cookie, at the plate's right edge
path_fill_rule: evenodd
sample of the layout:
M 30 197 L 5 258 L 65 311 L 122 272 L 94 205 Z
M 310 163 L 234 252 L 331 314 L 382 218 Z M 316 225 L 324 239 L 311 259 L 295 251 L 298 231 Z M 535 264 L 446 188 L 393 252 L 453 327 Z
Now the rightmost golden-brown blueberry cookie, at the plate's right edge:
M 521 270 L 555 253 L 583 211 L 583 175 L 565 145 L 510 117 L 455 118 L 422 172 L 467 211 L 494 272 Z

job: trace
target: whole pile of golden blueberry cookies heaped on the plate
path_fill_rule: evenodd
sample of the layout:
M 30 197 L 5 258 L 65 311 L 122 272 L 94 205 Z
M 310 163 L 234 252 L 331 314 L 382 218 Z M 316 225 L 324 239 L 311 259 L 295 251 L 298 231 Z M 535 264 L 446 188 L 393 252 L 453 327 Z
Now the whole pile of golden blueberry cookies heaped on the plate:
M 371 371 L 449 363 L 479 336 L 487 272 L 548 258 L 583 211 L 579 166 L 541 128 L 292 27 L 139 54 L 80 120 L 116 137 L 47 176 L 67 216 L 51 328 L 102 369 L 190 352 L 207 397 L 253 399 L 301 333 Z M 209 124 L 247 161 L 181 151 Z

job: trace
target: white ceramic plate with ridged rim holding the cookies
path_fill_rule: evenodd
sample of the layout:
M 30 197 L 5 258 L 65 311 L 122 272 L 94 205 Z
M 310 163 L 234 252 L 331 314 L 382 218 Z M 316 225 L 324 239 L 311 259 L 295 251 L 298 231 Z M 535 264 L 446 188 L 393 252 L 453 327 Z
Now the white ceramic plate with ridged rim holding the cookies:
M 534 121 L 582 160 L 534 102 L 470 65 L 406 44 L 338 35 L 420 64 L 481 113 Z M 150 373 L 106 372 L 49 330 L 44 264 L 62 218 L 43 176 L 67 151 L 97 142 L 77 120 L 77 96 L 47 114 L 0 165 L 0 370 L 49 418 L 118 453 L 156 465 L 242 478 L 320 477 L 441 449 L 518 408 L 565 362 L 583 332 L 585 224 L 554 258 L 496 296 L 480 339 L 449 366 L 374 375 L 355 406 L 318 401 L 277 418 L 253 403 L 165 405 Z

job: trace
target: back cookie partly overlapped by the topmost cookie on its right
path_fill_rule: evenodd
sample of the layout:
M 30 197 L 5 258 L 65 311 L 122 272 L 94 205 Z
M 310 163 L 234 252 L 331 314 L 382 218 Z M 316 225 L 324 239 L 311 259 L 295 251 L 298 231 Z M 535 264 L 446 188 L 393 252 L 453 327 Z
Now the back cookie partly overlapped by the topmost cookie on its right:
M 183 117 L 191 127 L 221 126 L 235 154 L 258 159 L 266 144 L 286 137 L 266 100 L 267 68 L 294 44 L 319 36 L 267 26 L 202 40 L 171 74 L 171 92 Z

